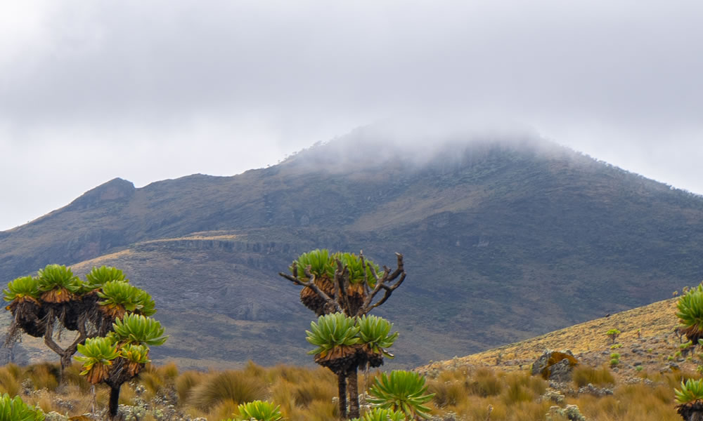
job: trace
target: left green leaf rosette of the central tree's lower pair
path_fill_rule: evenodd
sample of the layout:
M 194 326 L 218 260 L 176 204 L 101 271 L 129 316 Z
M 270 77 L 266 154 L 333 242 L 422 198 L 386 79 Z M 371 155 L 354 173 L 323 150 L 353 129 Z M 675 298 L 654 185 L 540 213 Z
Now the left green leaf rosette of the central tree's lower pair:
M 321 354 L 324 357 L 335 347 L 358 344 L 359 326 L 355 325 L 354 318 L 344 313 L 319 316 L 317 323 L 311 321 L 310 330 L 305 330 L 307 333 L 305 339 L 316 347 L 308 354 Z

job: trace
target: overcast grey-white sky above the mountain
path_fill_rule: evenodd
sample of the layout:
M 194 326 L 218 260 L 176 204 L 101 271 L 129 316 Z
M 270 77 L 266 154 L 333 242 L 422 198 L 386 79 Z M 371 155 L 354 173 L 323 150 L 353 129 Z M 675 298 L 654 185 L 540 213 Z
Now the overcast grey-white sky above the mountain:
M 703 193 L 701 22 L 700 0 L 3 1 L 0 229 L 420 116 Z

